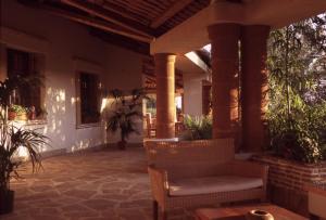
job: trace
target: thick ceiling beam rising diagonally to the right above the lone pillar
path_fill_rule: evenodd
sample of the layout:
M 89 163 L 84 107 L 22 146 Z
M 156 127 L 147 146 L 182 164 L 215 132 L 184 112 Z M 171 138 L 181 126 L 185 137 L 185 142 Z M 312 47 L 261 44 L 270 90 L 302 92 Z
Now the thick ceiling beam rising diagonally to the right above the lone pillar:
M 164 22 L 166 22 L 168 18 L 173 17 L 177 12 L 183 10 L 185 7 L 190 4 L 192 0 L 177 0 L 174 4 L 170 7 L 162 15 L 156 17 L 152 23 L 152 28 L 158 28 L 160 25 L 162 25 Z

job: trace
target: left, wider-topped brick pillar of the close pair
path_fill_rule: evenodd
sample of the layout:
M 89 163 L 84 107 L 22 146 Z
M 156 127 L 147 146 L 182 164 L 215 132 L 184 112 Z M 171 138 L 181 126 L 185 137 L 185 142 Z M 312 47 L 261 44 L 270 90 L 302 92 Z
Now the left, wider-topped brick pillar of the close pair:
M 212 44 L 213 138 L 236 138 L 239 88 L 239 24 L 209 26 Z

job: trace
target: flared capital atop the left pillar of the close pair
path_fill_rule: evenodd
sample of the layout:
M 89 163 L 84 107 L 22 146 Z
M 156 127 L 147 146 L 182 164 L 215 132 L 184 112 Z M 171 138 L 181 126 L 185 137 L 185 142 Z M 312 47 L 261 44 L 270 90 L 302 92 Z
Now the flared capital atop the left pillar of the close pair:
M 229 38 L 239 38 L 240 28 L 241 28 L 240 24 L 218 23 L 218 24 L 210 25 L 208 27 L 208 31 L 211 40 L 229 39 Z

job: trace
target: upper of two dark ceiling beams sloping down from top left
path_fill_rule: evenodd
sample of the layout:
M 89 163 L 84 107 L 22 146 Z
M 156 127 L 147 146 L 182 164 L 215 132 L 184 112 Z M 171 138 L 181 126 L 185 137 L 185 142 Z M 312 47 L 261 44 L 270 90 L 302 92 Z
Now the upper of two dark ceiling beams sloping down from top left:
M 86 1 L 82 1 L 82 0 L 60 0 L 60 2 L 65 3 L 67 5 L 71 5 L 73 8 L 76 8 L 78 10 L 82 10 L 84 12 L 87 12 L 91 15 L 101 17 L 102 20 L 113 23 L 115 25 L 118 25 L 121 27 L 124 27 L 126 29 L 129 29 L 134 33 L 137 33 L 139 35 L 146 36 L 148 38 L 154 38 L 152 35 L 149 34 L 149 30 L 146 31 L 143 30 L 145 27 L 141 27 L 139 24 L 131 24 L 131 21 L 122 21 L 123 17 L 117 18 L 117 16 L 120 16 L 118 14 L 115 13 L 108 13 L 106 10 L 104 10 L 103 8 L 96 5 L 96 4 L 90 4 L 87 3 Z M 110 14 L 110 16 L 109 16 Z M 127 24 L 129 23 L 129 24 Z

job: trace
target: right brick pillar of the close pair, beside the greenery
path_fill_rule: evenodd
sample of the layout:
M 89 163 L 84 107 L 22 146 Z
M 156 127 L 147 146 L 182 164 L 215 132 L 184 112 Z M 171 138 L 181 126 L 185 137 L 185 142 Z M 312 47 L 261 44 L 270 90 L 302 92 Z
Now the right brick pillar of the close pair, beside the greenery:
M 264 117 L 267 108 L 267 38 L 269 26 L 241 29 L 241 118 L 243 150 L 260 152 L 265 146 Z

